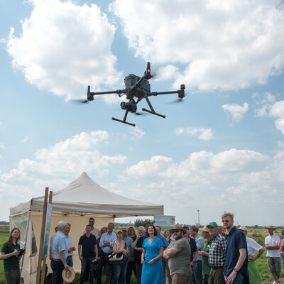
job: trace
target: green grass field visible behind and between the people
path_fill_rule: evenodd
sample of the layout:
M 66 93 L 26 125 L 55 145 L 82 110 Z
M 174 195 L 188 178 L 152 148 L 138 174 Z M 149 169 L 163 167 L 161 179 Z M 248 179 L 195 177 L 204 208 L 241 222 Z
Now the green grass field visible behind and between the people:
M 275 231 L 275 234 L 279 235 L 280 231 Z M 201 231 L 200 231 L 201 234 Z M 258 244 L 261 246 L 264 246 L 264 239 L 268 235 L 266 229 L 249 229 L 249 237 L 252 239 L 255 239 Z M 9 236 L 9 226 L 0 226 L 0 246 L 4 244 L 6 239 Z M 268 283 L 273 283 L 273 278 L 271 276 L 271 273 L 268 271 L 268 266 L 267 266 L 267 259 L 266 259 L 266 251 L 264 251 L 263 255 L 258 258 L 256 261 L 256 265 L 258 266 L 258 270 L 261 273 L 261 276 L 263 278 L 263 284 L 268 284 Z M 3 261 L 0 261 L 0 284 L 6 283 L 6 280 L 3 275 L 4 272 L 4 267 L 3 267 Z M 79 284 L 80 283 L 80 274 L 76 273 L 75 280 L 73 281 L 74 284 Z M 281 279 L 283 280 L 284 283 L 284 269 L 282 268 L 281 275 L 280 275 L 280 283 Z M 104 279 L 102 279 L 104 281 Z M 135 284 L 136 280 L 133 277 L 131 280 L 131 283 Z

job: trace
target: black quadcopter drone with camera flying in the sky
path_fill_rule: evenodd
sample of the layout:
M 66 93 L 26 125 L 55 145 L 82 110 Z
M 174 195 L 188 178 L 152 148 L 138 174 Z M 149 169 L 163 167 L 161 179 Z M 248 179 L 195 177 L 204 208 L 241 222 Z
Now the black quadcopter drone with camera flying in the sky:
M 155 112 L 148 97 L 158 96 L 159 94 L 178 94 L 178 98 L 179 100 L 181 100 L 182 98 L 185 97 L 185 85 L 181 84 L 180 89 L 178 91 L 151 92 L 151 85 L 148 80 L 150 80 L 152 77 L 153 75 L 151 75 L 150 62 L 148 62 L 147 69 L 142 77 L 130 74 L 124 78 L 125 89 L 116 89 L 116 91 L 109 91 L 109 92 L 91 92 L 90 90 L 91 88 L 90 86 L 88 86 L 87 101 L 84 102 L 93 101 L 94 96 L 100 94 L 118 94 L 119 97 L 126 95 L 126 99 L 128 99 L 129 102 L 121 102 L 120 104 L 121 109 L 125 110 L 124 119 L 121 120 L 121 119 L 116 119 L 114 117 L 112 117 L 111 119 L 114 121 L 119 121 L 123 124 L 129 124 L 131 126 L 135 126 L 135 124 L 131 124 L 129 121 L 126 121 L 127 115 L 129 114 L 129 112 L 131 112 L 132 114 L 138 114 L 136 112 L 138 102 L 140 102 L 141 99 L 146 99 L 146 102 L 151 110 L 143 108 L 142 111 L 146 111 L 150 114 L 154 114 L 156 116 L 160 116 L 163 117 L 163 119 L 165 119 L 165 116 L 163 114 L 158 114 L 157 112 Z

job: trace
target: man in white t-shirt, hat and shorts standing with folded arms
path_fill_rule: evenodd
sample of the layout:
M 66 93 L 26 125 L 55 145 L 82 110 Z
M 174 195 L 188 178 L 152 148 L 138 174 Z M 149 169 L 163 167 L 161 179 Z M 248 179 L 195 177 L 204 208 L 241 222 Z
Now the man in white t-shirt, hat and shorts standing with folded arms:
M 281 272 L 281 261 L 280 261 L 280 238 L 276 236 L 273 232 L 275 231 L 274 226 L 268 226 L 268 236 L 266 236 L 266 249 L 267 249 L 267 262 L 269 272 L 272 274 L 274 282 L 273 284 L 278 284 L 278 279 Z

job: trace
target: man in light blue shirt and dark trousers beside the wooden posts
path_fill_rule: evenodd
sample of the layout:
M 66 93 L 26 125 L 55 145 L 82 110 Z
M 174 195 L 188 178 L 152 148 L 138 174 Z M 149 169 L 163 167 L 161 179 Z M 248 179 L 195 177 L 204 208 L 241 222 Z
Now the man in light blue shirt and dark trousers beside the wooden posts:
M 62 284 L 62 271 L 69 269 L 66 263 L 67 246 L 64 234 L 66 225 L 64 221 L 58 222 L 58 231 L 50 239 L 50 266 L 53 270 L 53 284 Z

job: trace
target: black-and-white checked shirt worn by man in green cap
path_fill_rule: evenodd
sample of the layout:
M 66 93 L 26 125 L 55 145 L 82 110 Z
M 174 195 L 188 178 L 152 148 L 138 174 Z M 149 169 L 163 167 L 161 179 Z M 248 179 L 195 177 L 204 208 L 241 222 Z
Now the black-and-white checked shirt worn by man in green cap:
M 217 234 L 209 249 L 209 266 L 224 266 L 226 256 L 226 238 Z

